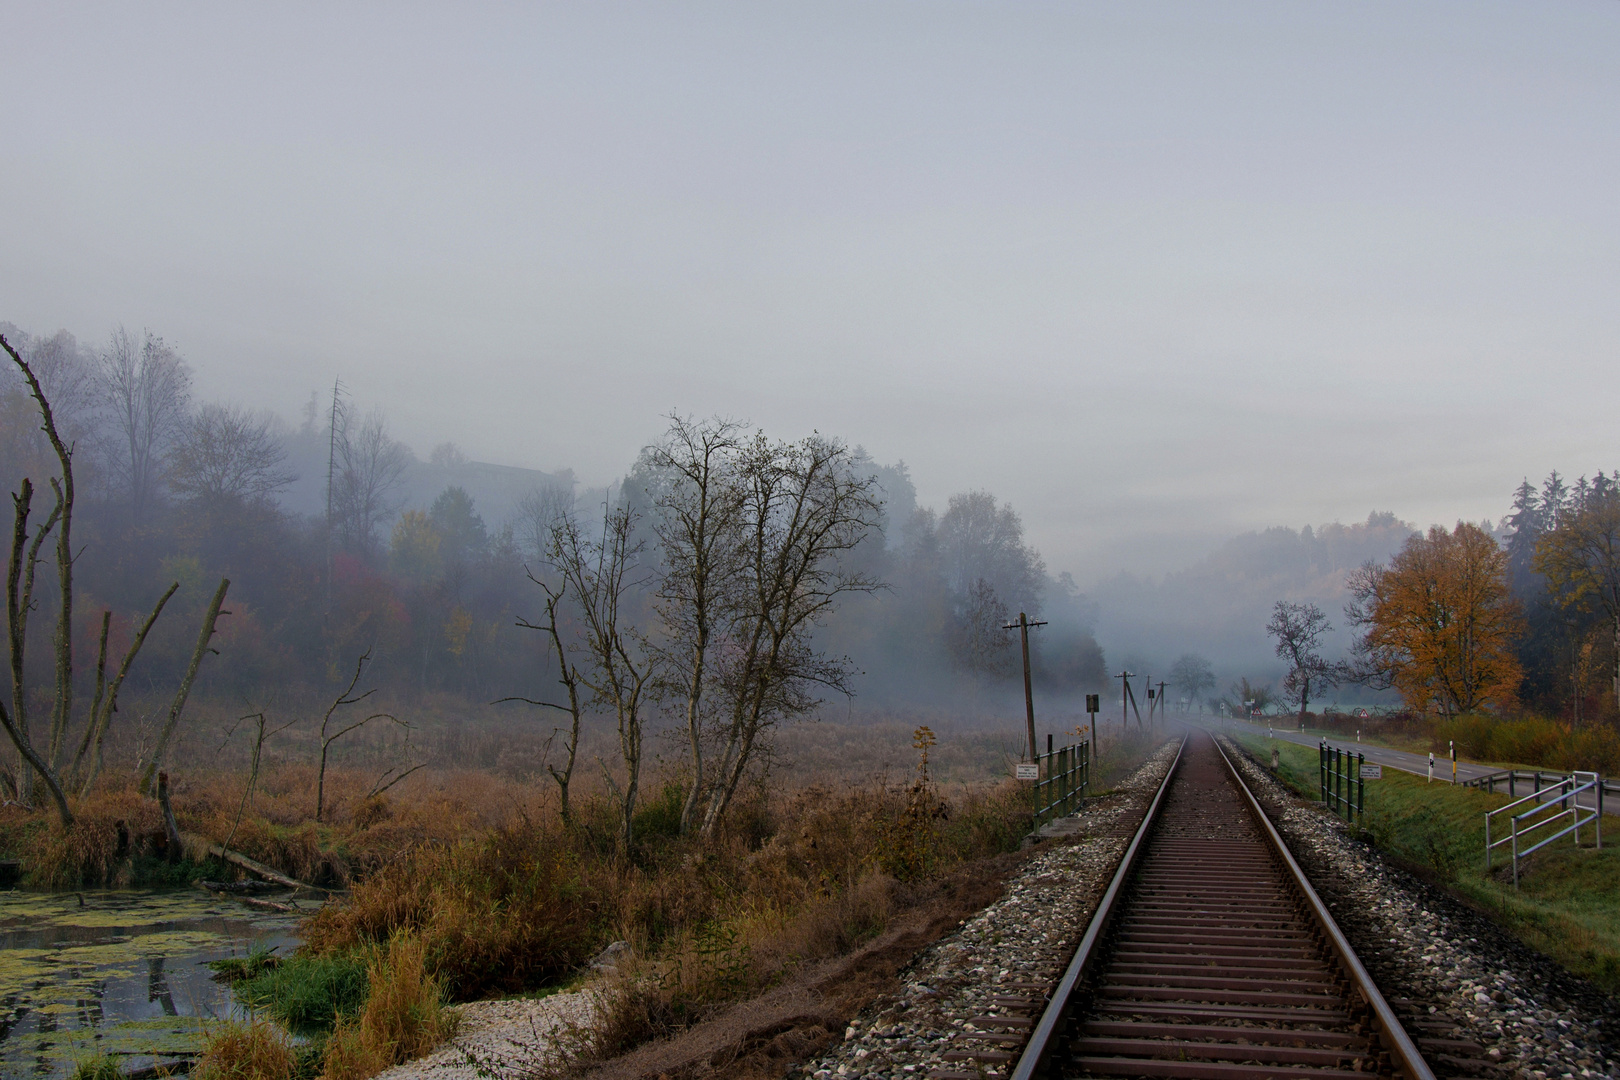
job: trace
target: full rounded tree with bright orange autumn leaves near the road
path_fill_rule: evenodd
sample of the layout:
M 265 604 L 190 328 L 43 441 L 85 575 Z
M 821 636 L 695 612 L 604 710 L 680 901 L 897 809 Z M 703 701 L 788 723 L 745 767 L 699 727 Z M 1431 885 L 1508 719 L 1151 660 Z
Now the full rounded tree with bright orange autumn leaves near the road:
M 1463 521 L 1409 538 L 1388 567 L 1362 565 L 1345 607 L 1361 630 L 1354 677 L 1393 687 L 1422 712 L 1513 704 L 1523 680 L 1513 651 L 1521 620 L 1507 568 L 1497 541 Z

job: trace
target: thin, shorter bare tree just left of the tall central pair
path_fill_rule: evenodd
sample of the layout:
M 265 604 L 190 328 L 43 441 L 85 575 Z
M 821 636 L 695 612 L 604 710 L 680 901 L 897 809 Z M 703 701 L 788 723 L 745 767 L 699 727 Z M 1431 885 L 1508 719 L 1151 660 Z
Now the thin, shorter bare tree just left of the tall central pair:
M 627 507 L 606 510 L 601 538 L 586 538 L 578 521 L 559 518 L 551 529 L 551 563 L 573 589 L 590 657 L 582 682 L 598 704 L 609 706 L 619 724 L 619 756 L 625 784 L 617 790 L 620 840 L 630 848 L 637 789 L 642 779 L 642 724 L 651 690 L 653 661 L 630 622 L 625 604 L 642 585 L 635 580 L 642 546 L 637 518 Z

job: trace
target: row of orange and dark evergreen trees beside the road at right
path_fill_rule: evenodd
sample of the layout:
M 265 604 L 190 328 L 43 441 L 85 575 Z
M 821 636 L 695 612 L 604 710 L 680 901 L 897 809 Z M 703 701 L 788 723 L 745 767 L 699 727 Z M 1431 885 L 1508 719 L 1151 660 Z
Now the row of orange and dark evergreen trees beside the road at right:
M 1413 712 L 1455 717 L 1520 706 L 1576 727 L 1620 703 L 1620 473 L 1573 486 L 1524 481 L 1502 521 L 1414 533 L 1388 563 L 1349 575 L 1351 657 L 1330 662 L 1332 630 L 1309 602 L 1278 601 L 1267 631 L 1288 667 L 1283 698 L 1301 722 L 1317 690 L 1395 690 Z

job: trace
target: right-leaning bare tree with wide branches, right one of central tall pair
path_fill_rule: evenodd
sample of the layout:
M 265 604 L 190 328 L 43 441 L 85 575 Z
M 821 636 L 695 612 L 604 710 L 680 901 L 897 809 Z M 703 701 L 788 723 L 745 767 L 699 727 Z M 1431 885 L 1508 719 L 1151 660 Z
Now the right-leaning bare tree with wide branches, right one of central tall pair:
M 883 512 L 876 479 L 850 465 L 849 449 L 823 436 L 770 444 L 760 434 L 739 455 L 744 565 L 727 599 L 718 664 L 723 745 L 705 836 L 778 722 L 813 709 L 821 690 L 849 693 L 849 659 L 818 653 L 812 633 L 846 593 L 883 588 L 849 562 Z

